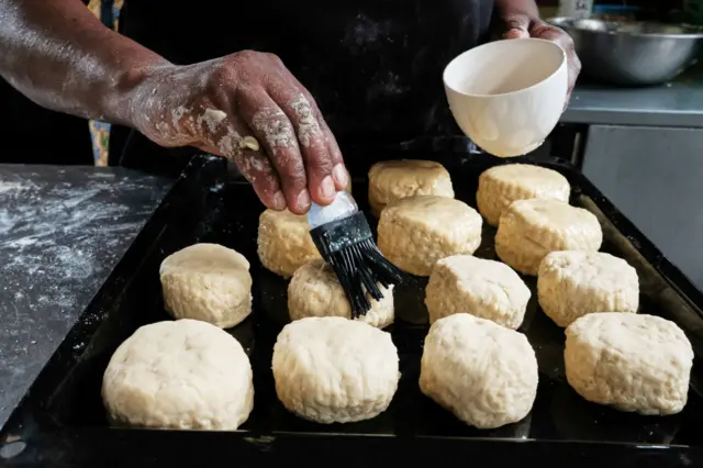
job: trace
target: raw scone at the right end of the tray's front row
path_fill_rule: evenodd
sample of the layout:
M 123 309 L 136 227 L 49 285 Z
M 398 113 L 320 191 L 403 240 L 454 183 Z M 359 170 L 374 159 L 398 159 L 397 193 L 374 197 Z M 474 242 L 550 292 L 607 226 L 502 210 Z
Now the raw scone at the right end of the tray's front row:
M 640 414 L 674 414 L 688 401 L 691 343 L 676 323 L 592 313 L 566 330 L 567 380 L 585 400 Z

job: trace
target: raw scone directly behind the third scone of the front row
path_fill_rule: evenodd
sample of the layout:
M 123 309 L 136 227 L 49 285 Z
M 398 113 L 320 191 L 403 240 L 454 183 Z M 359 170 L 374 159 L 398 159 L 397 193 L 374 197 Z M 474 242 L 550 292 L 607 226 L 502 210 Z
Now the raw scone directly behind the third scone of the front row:
M 532 296 L 507 265 L 470 255 L 437 261 L 425 293 L 429 323 L 466 312 L 512 330 L 522 325 Z

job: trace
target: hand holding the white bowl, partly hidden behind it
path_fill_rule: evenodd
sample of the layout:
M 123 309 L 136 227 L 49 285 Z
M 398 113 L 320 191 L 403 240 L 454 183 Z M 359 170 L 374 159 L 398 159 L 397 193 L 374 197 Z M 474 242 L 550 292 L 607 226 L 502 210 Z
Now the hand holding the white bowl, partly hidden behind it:
M 504 19 L 505 31 L 503 33 L 504 38 L 520 38 L 520 37 L 537 37 L 547 41 L 555 42 L 563 48 L 567 53 L 567 67 L 569 73 L 569 87 L 567 88 L 567 100 L 563 103 L 563 109 L 567 109 L 569 99 L 571 98 L 571 91 L 581 71 L 581 60 L 576 55 L 576 48 L 573 47 L 573 40 L 563 30 L 557 26 L 545 23 L 539 19 L 534 19 L 527 14 L 511 14 Z

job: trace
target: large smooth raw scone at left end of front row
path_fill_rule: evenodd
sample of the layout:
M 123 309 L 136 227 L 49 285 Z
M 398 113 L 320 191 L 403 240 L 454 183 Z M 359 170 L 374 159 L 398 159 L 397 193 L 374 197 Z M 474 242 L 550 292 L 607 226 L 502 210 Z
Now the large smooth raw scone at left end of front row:
M 239 342 L 214 325 L 158 322 L 114 352 L 102 399 L 119 425 L 234 431 L 254 406 L 252 366 Z

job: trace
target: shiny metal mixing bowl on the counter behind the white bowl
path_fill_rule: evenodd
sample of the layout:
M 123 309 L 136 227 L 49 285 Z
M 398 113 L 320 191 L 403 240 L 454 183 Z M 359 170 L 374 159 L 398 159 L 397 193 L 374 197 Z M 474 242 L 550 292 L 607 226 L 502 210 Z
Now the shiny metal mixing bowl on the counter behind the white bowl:
M 615 85 L 666 82 L 692 65 L 703 30 L 648 22 L 551 18 L 573 38 L 583 74 Z

